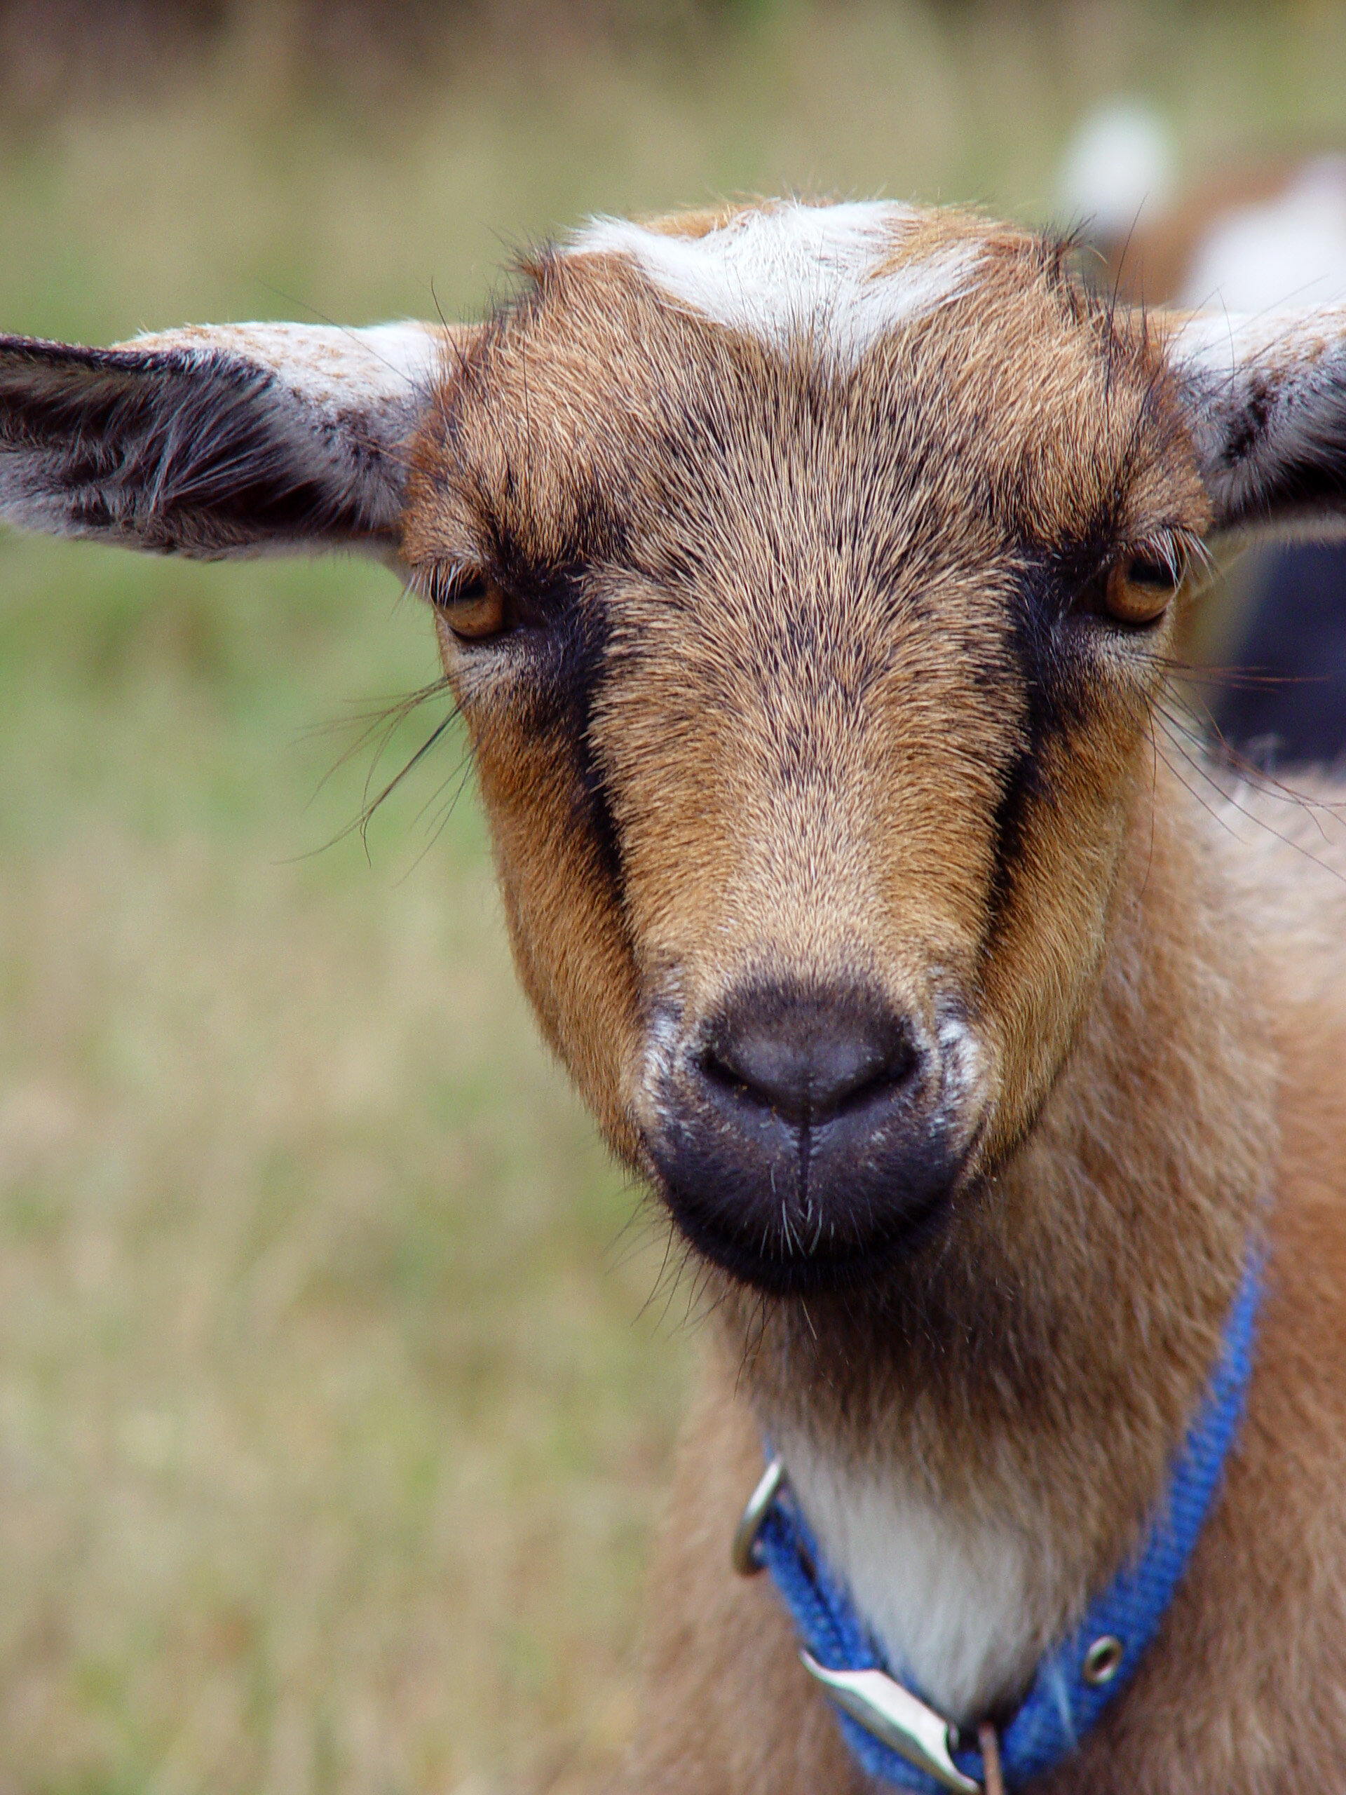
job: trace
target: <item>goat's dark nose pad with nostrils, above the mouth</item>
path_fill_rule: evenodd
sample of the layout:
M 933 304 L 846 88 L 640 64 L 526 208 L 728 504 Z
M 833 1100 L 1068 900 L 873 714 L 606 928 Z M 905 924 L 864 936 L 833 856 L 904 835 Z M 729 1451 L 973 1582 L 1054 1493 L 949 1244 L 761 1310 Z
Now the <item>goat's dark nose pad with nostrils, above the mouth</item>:
M 917 1064 L 912 1032 L 851 993 L 736 1002 L 712 1027 L 702 1070 L 790 1122 L 826 1122 L 892 1093 Z

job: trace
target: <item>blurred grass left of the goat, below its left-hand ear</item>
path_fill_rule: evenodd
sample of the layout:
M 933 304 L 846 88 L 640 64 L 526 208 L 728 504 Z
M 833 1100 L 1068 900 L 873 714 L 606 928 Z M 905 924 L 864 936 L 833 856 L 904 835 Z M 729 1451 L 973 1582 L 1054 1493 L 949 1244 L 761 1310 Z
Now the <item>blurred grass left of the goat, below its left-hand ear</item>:
M 470 795 L 296 858 L 364 772 L 312 799 L 305 725 L 422 684 L 424 617 L 339 562 L 2 569 L 0 1786 L 601 1757 L 680 1384 L 632 1327 L 657 1262 Z

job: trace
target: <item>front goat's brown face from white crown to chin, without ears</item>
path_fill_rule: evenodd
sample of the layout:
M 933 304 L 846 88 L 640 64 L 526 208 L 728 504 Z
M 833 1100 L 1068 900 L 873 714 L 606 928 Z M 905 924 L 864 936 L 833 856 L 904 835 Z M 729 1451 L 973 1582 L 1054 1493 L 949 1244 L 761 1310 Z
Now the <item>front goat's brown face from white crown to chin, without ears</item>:
M 544 1029 L 765 1289 L 890 1274 L 1032 1125 L 1210 524 L 1143 328 L 1037 239 L 852 210 L 535 264 L 404 538 Z

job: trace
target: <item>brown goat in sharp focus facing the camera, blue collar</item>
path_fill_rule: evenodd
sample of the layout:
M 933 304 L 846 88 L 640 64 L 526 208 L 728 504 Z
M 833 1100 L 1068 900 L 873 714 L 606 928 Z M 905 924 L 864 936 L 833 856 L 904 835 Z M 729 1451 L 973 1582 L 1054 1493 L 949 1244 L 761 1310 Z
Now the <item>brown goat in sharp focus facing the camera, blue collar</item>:
M 1344 499 L 1346 311 L 1127 312 L 901 205 L 596 221 L 479 325 L 0 339 L 4 517 L 433 609 L 519 976 L 712 1312 L 632 1788 L 872 1788 L 856 1716 L 915 1788 L 1342 1773 L 1346 851 L 1163 729 L 1211 551 Z M 1249 1287 L 1158 1632 L 1000 1766 Z M 906 1721 L 730 1571 L 763 1441 L 739 1569 L 795 1517 Z

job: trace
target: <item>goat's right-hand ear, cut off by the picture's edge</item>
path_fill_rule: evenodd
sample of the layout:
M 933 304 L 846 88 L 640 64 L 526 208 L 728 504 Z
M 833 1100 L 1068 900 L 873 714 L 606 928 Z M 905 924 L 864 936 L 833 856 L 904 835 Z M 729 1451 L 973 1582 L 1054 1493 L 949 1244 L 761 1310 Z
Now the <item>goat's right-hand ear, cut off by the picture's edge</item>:
M 1217 530 L 1346 528 L 1346 307 L 1176 318 L 1177 377 Z

